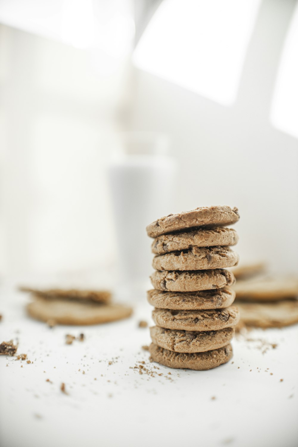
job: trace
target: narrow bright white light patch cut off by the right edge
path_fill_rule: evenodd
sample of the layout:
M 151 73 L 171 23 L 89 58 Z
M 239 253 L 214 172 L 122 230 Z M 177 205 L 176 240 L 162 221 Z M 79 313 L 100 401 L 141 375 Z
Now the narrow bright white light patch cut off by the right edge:
M 298 6 L 285 39 L 270 118 L 273 126 L 298 138 Z

